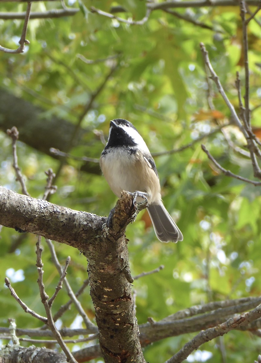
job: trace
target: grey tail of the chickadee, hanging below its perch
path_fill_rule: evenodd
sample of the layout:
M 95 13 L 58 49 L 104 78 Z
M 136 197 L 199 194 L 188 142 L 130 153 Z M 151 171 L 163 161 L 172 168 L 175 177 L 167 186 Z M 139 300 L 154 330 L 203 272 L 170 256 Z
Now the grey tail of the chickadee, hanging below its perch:
M 169 215 L 167 209 L 161 204 L 151 204 L 147 207 L 156 236 L 161 242 L 178 242 L 183 235 L 178 226 Z

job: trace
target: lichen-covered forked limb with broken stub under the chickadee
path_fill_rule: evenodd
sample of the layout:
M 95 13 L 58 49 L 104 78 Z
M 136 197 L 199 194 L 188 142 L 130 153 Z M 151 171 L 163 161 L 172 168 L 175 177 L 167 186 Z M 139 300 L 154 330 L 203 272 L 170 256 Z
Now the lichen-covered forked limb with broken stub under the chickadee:
M 106 363 L 145 363 L 139 342 L 125 230 L 135 213 L 130 194 L 107 218 L 74 211 L 0 187 L 0 224 L 78 248 L 88 261 L 99 342 Z

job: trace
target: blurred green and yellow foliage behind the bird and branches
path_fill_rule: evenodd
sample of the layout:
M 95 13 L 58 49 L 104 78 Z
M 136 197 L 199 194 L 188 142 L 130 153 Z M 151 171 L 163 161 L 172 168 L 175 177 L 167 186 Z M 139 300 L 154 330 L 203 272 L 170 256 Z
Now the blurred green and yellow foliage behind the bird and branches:
M 231 122 L 223 99 L 206 78 L 199 42 L 204 42 L 230 101 L 238 109 L 236 71 L 240 72 L 244 85 L 240 9 L 236 6 L 174 9 L 185 20 L 175 13 L 157 10 L 151 12 L 143 25 L 130 25 L 90 8 L 110 12 L 116 5 L 105 0 L 66 1 L 68 8 L 79 8 L 74 16 L 30 20 L 27 34 L 30 45 L 25 52 L 0 54 L 1 95 L 10 100 L 6 107 L 0 97 L 0 183 L 20 192 L 12 169 L 11 139 L 5 133 L 7 127 L 15 125 L 27 135 L 26 143 L 21 135 L 17 147 L 19 166 L 33 197 L 41 198 L 44 171 L 51 167 L 57 172 L 58 186 L 50 199 L 52 203 L 108 215 L 116 198 L 98 164 L 71 157 L 54 158 L 43 150 L 50 137 L 69 140 L 61 151 L 80 158 L 99 158 L 110 119 L 126 118 L 139 130 L 152 154 L 163 152 L 155 156 L 163 201 L 184 235 L 184 241 L 178 244 L 160 243 L 146 211 L 128 226 L 132 276 L 165 266 L 159 273 L 134 283 L 138 322 L 144 323 L 148 317 L 159 320 L 209 301 L 260 295 L 260 188 L 221 175 L 200 147 L 203 142 L 222 166 L 252 178 L 249 159 L 233 148 L 244 149 L 240 131 L 233 125 L 227 126 L 224 132 L 212 133 L 192 147 L 168 153 Z M 116 14 L 123 19 L 132 17 L 138 21 L 145 16 L 144 1 L 123 0 L 120 5 L 127 9 L 126 13 Z M 32 4 L 32 11 L 56 8 L 62 8 L 61 4 Z M 2 4 L 5 12 L 25 9 L 26 4 Z M 0 20 L 0 25 L 1 45 L 16 48 L 23 21 Z M 260 23 L 252 20 L 248 30 L 250 106 L 252 123 L 258 132 Z M 18 108 L 12 95 L 23 100 Z M 30 112 L 29 105 L 37 107 L 37 119 L 25 117 L 20 129 L 21 114 Z M 13 108 L 15 113 L 10 117 Z M 68 129 L 68 123 L 73 127 Z M 44 135 L 41 142 L 30 146 L 41 135 Z M 8 228 L 1 230 L 1 326 L 8 326 L 8 318 L 15 318 L 17 327 L 39 324 L 11 298 L 4 286 L 5 276 L 10 277 L 18 295 L 31 309 L 44 314 L 36 283 L 35 243 L 36 236 Z M 51 295 L 58 273 L 44 241 L 43 245 L 45 287 Z M 66 245 L 56 243 L 56 249 L 61 263 L 71 256 L 67 277 L 75 291 L 78 290 L 87 277 L 85 258 Z M 53 311 L 67 299 L 62 290 Z M 88 288 L 80 300 L 94 319 Z M 59 324 L 81 326 L 74 307 Z M 144 349 L 145 359 L 163 362 L 192 337 L 193 334 L 187 334 L 148 346 Z M 70 348 L 82 346 L 71 344 Z M 260 353 L 260 342 L 248 332 L 232 331 L 221 340 L 204 344 L 200 352 L 192 354 L 188 361 L 254 362 Z M 95 360 L 98 361 L 101 360 Z

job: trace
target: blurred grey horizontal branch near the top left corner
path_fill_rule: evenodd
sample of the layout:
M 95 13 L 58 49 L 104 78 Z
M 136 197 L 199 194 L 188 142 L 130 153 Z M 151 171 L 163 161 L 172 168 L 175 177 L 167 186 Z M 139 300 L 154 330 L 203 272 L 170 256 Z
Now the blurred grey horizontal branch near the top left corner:
M 52 9 L 44 12 L 31 12 L 30 19 L 51 19 L 60 18 L 64 16 L 74 16 L 79 12 L 79 9 Z M 24 19 L 26 12 L 0 12 L 0 19 L 3 20 L 14 20 L 14 19 Z

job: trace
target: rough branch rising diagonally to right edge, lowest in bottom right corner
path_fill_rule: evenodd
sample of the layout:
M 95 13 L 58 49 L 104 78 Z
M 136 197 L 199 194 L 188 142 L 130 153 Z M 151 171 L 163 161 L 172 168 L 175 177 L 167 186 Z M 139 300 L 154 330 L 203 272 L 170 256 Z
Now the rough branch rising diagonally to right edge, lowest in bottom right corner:
M 187 344 L 185 344 L 184 347 L 178 353 L 176 353 L 174 356 L 168 359 L 165 363 L 180 363 L 184 359 L 186 359 L 189 356 L 189 354 L 193 352 L 193 350 L 199 348 L 203 343 L 209 342 L 209 340 L 227 334 L 229 331 L 233 329 L 246 326 L 250 322 L 260 317 L 261 317 L 261 304 L 258 305 L 255 309 L 249 311 L 248 313 L 237 315 L 236 317 L 230 318 L 218 326 L 209 328 L 205 331 L 201 331 L 199 334 L 196 335 L 196 337 L 194 337 Z

